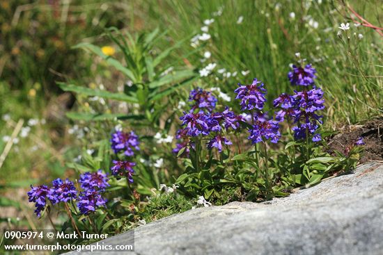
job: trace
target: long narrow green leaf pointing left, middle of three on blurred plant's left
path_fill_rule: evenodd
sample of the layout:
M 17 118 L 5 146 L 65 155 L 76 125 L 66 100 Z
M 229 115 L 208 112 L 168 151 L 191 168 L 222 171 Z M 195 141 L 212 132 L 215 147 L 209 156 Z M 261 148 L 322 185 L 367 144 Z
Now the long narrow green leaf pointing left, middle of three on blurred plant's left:
M 91 88 L 85 88 L 73 84 L 66 84 L 66 83 L 57 83 L 60 88 L 64 91 L 70 91 L 70 92 L 76 92 L 79 94 L 84 94 L 89 97 L 102 97 L 104 99 L 114 99 L 118 101 L 126 101 L 129 103 L 138 103 L 138 100 L 135 97 L 127 96 L 126 94 L 122 93 L 114 93 L 109 92 L 105 90 L 93 90 Z

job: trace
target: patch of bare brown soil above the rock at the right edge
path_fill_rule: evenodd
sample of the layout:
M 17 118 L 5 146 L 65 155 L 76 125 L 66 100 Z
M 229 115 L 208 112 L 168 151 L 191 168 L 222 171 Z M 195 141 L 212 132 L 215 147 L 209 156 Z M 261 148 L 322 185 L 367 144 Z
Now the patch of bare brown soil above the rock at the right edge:
M 350 149 L 359 137 L 363 138 L 366 143 L 360 163 L 383 161 L 383 117 L 370 120 L 364 125 L 343 127 L 337 135 L 329 140 L 329 149 L 347 153 L 347 149 Z

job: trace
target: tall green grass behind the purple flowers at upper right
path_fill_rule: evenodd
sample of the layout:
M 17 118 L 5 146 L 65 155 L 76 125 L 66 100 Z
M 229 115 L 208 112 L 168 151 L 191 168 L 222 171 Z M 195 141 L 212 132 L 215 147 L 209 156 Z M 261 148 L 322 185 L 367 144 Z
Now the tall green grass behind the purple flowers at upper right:
M 235 78 L 203 79 L 202 84 L 220 86 L 233 92 L 237 82 L 250 83 L 253 77 L 263 81 L 268 90 L 269 106 L 281 92 L 292 92 L 287 73 L 296 63 L 299 52 L 306 63 L 318 70 L 318 85 L 326 94 L 329 124 L 357 123 L 383 113 L 382 37 L 372 28 L 354 26 L 345 7 L 354 10 L 375 26 L 381 25 L 381 1 L 184 1 L 164 0 L 146 8 L 148 26 L 169 29 L 174 42 L 203 33 L 205 19 L 214 18 L 209 34 L 212 38 L 199 49 L 212 53 L 210 62 L 217 63 Z M 221 15 L 214 16 L 218 10 Z M 295 13 L 292 18 L 290 13 Z M 239 17 L 243 22 L 237 24 Z M 310 20 L 312 21 L 310 22 Z M 315 26 L 318 22 L 318 26 Z M 343 32 L 341 23 L 350 22 Z M 356 35 L 354 35 L 356 33 Z M 359 39 L 359 33 L 363 38 Z M 350 39 L 347 39 L 347 37 Z M 194 50 L 184 44 L 181 52 Z M 187 59 L 203 66 L 199 57 Z M 209 61 L 207 63 L 209 63 Z M 241 70 L 250 70 L 246 77 Z M 212 75 L 214 76 L 214 75 Z

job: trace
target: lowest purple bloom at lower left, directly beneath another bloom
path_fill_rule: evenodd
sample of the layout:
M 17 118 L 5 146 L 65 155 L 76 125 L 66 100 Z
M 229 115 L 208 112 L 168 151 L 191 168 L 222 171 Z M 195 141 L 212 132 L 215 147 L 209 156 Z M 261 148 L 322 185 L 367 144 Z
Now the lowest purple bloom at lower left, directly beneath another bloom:
M 77 207 L 83 215 L 94 212 L 98 207 L 105 206 L 107 199 L 101 197 L 97 190 L 86 190 L 79 194 Z

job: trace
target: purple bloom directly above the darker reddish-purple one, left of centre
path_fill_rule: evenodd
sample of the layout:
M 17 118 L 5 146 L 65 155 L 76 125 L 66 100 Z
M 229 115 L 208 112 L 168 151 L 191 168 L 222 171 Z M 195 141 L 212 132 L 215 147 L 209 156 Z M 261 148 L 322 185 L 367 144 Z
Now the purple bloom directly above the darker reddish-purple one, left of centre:
M 123 150 L 126 156 L 133 156 L 133 149 L 139 150 L 139 137 L 133 131 L 130 133 L 116 131 L 111 135 L 110 141 L 115 154 Z

